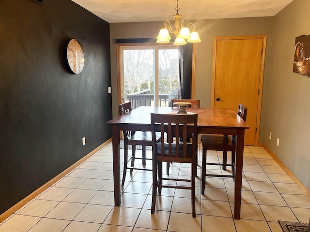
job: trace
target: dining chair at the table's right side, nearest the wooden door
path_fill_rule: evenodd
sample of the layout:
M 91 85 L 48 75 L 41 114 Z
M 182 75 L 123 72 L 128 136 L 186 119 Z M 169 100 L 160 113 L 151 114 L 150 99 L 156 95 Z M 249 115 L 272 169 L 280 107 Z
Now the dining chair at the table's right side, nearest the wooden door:
M 237 114 L 246 121 L 248 108 L 239 104 Z M 232 177 L 234 181 L 235 173 L 235 136 L 231 135 L 212 135 L 212 134 L 202 134 L 200 138 L 202 144 L 202 194 L 204 194 L 205 189 L 205 177 L 206 176 L 216 176 L 216 177 Z M 211 151 L 223 151 L 223 161 L 222 163 L 210 163 L 207 162 L 207 150 Z M 231 163 L 227 163 L 227 152 L 232 152 Z M 232 167 L 232 174 L 206 174 L 206 165 L 219 165 L 222 166 L 223 170 L 226 170 L 227 166 Z

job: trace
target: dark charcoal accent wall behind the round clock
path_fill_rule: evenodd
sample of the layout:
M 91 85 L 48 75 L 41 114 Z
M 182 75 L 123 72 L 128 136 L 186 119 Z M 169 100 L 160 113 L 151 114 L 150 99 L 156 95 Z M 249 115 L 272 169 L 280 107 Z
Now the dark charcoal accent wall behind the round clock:
M 69 38 L 80 74 L 64 64 Z M 71 0 L 0 1 L 0 214 L 111 137 L 109 49 L 109 23 Z

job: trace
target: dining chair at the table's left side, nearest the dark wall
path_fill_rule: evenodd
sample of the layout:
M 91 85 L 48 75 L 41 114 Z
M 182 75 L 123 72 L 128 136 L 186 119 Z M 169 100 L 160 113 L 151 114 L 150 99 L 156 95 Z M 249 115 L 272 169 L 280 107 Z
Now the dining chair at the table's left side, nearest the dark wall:
M 131 110 L 131 102 L 126 102 L 118 106 L 119 115 L 128 114 Z M 152 160 L 151 158 L 146 158 L 146 146 L 152 146 L 152 135 L 151 131 L 123 131 L 124 134 L 124 173 L 122 179 L 122 186 L 124 186 L 127 169 L 130 169 L 130 173 L 133 170 L 146 170 L 152 171 L 152 169 L 144 168 L 146 165 L 146 160 Z M 156 141 L 160 140 L 160 133 L 155 134 Z M 128 145 L 131 145 L 131 157 L 128 160 Z M 142 146 L 142 158 L 136 157 L 136 145 Z M 135 159 L 142 160 L 142 167 L 135 167 Z M 131 165 L 128 167 L 128 163 L 131 160 Z

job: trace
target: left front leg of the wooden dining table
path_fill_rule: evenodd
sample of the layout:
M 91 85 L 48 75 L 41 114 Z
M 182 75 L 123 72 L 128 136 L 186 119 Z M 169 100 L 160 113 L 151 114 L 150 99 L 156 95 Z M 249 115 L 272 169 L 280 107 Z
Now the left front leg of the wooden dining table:
M 120 159 L 120 131 L 118 125 L 112 125 L 112 147 L 113 147 L 113 178 L 114 178 L 114 204 L 121 205 L 121 159 Z

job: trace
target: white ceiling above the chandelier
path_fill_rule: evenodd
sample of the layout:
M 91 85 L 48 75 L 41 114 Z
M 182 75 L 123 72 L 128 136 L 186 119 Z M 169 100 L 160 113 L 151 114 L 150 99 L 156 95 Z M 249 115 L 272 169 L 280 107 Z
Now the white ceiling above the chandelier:
M 173 20 L 176 0 L 72 0 L 109 23 Z M 293 0 L 179 0 L 182 19 L 274 16 Z

